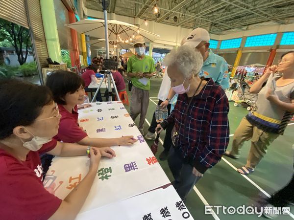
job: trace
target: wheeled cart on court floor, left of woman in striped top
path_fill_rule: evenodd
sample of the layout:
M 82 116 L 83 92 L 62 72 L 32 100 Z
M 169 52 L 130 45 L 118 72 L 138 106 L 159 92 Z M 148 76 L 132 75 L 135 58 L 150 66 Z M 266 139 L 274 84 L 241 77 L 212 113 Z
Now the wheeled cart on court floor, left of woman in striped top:
M 240 83 L 238 83 L 237 91 L 239 100 L 235 100 L 235 107 L 242 105 L 248 111 L 255 111 L 257 109 L 256 102 L 258 94 L 249 92 L 249 89 L 250 87 L 248 86 L 248 84 L 241 85 Z

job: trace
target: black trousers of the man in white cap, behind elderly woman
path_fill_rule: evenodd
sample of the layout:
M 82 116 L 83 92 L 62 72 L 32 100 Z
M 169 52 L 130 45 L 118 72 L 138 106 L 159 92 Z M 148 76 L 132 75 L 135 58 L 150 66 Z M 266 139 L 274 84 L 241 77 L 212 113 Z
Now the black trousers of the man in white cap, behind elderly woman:
M 158 101 L 158 106 L 163 103 L 163 101 L 159 100 Z M 169 111 L 169 115 L 171 114 L 171 104 L 168 105 L 168 111 Z M 148 129 L 149 132 L 151 133 L 155 133 L 155 129 L 156 129 L 156 126 L 157 126 L 157 122 L 156 122 L 156 118 L 155 118 L 155 111 L 153 113 L 153 117 L 152 117 L 152 122 L 151 122 L 151 125 Z M 163 143 L 163 147 L 164 147 L 164 150 L 166 151 L 169 151 L 171 146 L 172 146 L 172 128 L 173 128 L 174 124 L 171 123 L 168 125 L 167 129 L 166 129 L 166 136 L 164 138 L 164 143 Z

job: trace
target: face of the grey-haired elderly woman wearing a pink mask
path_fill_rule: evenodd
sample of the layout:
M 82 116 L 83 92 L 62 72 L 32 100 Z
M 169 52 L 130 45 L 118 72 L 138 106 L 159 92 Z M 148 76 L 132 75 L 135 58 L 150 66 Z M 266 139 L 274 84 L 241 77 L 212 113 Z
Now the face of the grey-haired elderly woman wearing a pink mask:
M 171 87 L 176 87 L 181 84 L 184 85 L 184 88 L 188 88 L 192 80 L 192 74 L 187 78 L 179 70 L 177 65 L 170 65 L 168 69 L 168 76 L 171 78 Z

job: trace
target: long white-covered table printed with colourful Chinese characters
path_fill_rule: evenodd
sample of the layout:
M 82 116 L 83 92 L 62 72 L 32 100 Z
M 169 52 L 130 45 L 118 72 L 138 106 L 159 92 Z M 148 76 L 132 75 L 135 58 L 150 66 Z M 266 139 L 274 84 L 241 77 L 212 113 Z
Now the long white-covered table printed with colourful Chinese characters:
M 90 137 L 133 135 L 132 147 L 114 146 L 101 158 L 97 176 L 77 220 L 193 220 L 121 102 L 91 103 L 79 110 Z M 64 199 L 89 170 L 89 158 L 55 157 L 44 186 Z

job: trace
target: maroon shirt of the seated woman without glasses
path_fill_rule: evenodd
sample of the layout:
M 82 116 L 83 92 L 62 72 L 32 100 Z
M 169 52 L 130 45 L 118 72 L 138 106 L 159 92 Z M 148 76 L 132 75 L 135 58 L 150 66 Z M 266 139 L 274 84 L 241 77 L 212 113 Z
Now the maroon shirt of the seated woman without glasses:
M 78 126 L 77 118 L 77 106 L 73 108 L 72 112 L 66 110 L 63 105 L 59 105 L 59 113 L 61 114 L 61 119 L 59 122 L 58 134 L 54 137 L 58 141 L 63 141 L 67 143 L 76 143 L 85 138 L 86 132 L 82 131 Z

